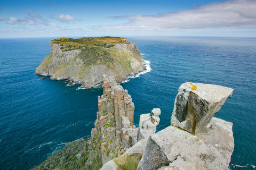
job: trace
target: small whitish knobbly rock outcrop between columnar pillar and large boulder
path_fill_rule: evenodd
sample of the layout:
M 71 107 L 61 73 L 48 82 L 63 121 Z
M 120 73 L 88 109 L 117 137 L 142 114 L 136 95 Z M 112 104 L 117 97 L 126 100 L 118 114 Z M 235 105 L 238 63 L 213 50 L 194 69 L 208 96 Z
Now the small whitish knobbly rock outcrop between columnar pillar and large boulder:
M 138 129 L 138 141 L 148 139 L 151 134 L 156 132 L 156 126 L 160 122 L 158 117 L 161 114 L 159 108 L 154 108 L 151 113 L 140 115 L 140 124 Z

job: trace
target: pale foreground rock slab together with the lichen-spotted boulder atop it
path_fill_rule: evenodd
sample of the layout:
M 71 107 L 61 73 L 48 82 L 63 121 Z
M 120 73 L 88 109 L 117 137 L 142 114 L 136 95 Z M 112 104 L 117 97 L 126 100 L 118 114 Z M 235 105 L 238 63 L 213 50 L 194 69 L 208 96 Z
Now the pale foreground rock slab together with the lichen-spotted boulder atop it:
M 137 169 L 227 169 L 234 150 L 233 123 L 213 115 L 232 92 L 213 84 L 183 83 L 171 126 L 149 137 Z

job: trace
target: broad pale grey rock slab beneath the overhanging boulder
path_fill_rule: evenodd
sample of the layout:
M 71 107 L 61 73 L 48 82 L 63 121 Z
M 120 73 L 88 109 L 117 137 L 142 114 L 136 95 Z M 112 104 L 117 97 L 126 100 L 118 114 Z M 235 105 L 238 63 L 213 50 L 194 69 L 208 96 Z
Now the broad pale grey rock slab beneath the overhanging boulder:
M 232 125 L 212 118 L 198 136 L 169 126 L 149 137 L 137 169 L 227 169 L 234 150 Z

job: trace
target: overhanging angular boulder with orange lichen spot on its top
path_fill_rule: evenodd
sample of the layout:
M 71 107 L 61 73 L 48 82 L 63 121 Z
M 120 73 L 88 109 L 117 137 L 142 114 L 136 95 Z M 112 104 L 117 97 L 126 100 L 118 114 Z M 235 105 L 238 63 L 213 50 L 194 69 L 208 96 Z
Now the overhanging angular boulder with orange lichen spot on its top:
M 171 125 L 192 134 L 204 131 L 232 93 L 233 89 L 214 84 L 181 84 L 174 103 Z

